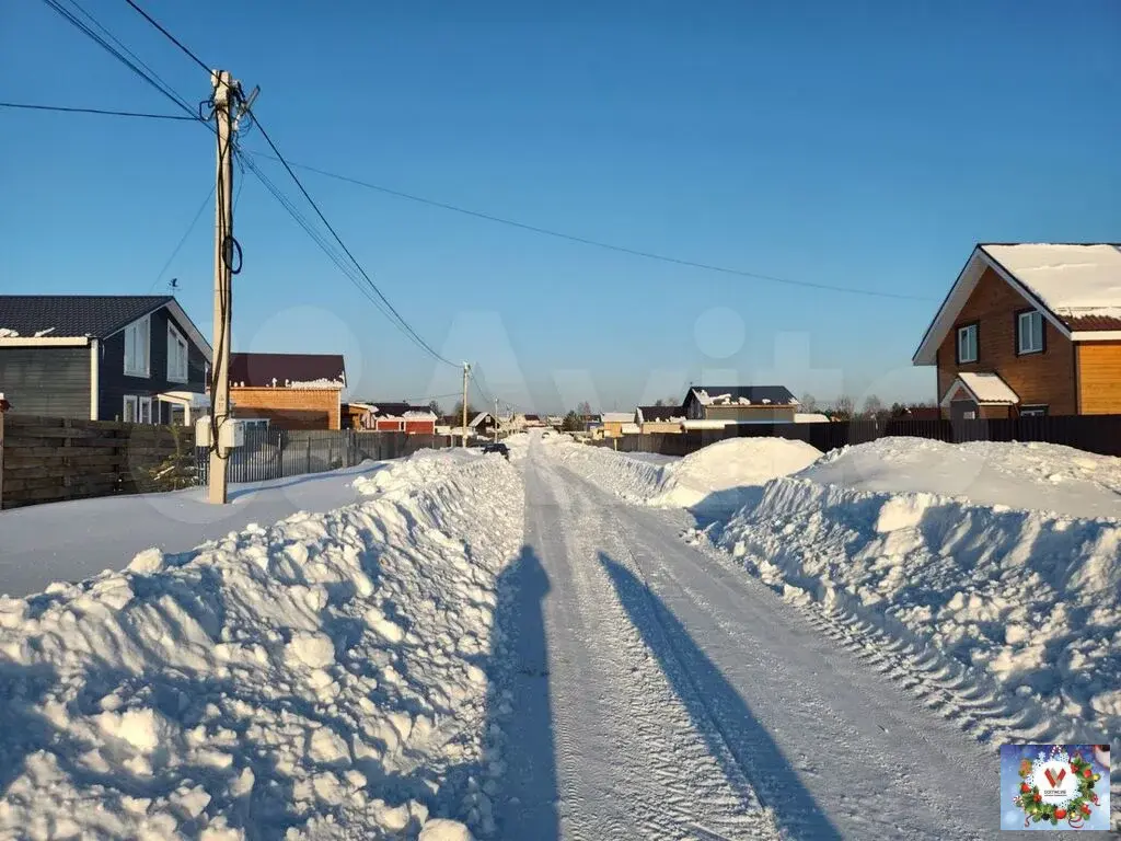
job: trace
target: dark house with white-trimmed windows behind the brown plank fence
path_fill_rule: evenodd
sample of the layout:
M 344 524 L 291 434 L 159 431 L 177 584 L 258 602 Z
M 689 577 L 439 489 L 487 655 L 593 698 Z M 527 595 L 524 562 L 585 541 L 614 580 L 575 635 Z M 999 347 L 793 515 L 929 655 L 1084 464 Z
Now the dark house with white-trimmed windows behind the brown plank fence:
M 189 424 L 211 353 L 170 295 L 0 295 L 0 391 L 22 415 Z

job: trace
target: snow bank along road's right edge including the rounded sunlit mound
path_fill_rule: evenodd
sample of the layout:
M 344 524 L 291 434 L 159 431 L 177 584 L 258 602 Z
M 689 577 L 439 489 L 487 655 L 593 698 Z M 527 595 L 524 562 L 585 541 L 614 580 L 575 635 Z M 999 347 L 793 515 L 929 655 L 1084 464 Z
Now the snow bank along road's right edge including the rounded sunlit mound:
M 706 511 L 734 510 L 742 505 L 744 488 L 796 472 L 821 458 L 809 444 L 785 438 L 729 438 L 661 464 L 582 444 L 557 444 L 549 453 L 628 501 L 666 508 L 703 506 Z

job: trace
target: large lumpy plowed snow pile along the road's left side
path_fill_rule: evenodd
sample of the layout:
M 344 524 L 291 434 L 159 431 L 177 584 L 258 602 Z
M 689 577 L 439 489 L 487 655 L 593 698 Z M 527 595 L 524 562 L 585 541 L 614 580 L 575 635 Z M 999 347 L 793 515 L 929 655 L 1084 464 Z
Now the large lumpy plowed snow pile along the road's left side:
M 445 460 L 410 492 L 0 599 L 0 837 L 488 834 L 483 666 L 522 520 L 504 460 Z

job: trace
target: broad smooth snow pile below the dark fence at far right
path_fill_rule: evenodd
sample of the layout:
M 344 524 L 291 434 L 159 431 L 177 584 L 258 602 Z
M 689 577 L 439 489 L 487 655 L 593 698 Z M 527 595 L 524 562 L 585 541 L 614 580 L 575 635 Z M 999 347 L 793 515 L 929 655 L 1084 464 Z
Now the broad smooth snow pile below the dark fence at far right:
M 1121 517 L 1121 459 L 1058 444 L 888 437 L 834 450 L 799 478 L 1075 517 Z

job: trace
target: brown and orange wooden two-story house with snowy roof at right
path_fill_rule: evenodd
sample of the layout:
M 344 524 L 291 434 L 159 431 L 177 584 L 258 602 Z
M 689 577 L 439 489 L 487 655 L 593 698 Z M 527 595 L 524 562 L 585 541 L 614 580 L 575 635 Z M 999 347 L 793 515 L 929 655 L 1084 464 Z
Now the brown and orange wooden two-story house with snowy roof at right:
M 912 362 L 943 417 L 1121 413 L 1121 248 L 976 246 Z

